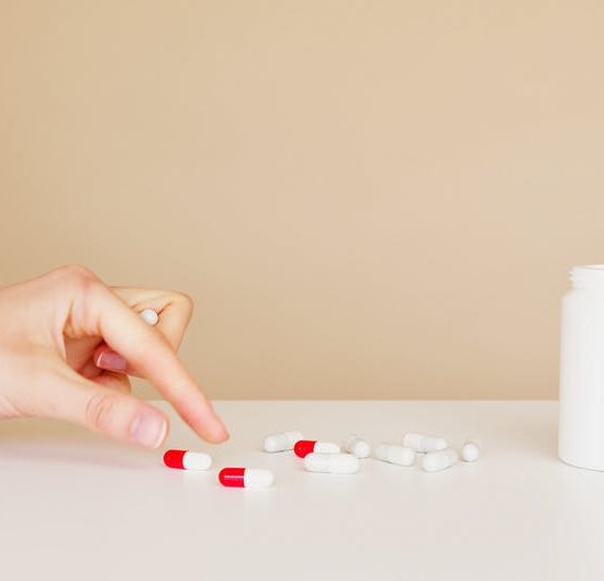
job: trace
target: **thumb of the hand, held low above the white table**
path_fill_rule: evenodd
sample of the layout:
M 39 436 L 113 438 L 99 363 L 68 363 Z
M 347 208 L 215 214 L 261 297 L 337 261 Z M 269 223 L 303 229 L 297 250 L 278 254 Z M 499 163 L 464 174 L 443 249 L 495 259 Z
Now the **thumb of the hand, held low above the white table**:
M 168 420 L 148 403 L 71 370 L 59 373 L 56 382 L 48 390 L 55 400 L 53 417 L 146 448 L 157 448 L 166 439 Z

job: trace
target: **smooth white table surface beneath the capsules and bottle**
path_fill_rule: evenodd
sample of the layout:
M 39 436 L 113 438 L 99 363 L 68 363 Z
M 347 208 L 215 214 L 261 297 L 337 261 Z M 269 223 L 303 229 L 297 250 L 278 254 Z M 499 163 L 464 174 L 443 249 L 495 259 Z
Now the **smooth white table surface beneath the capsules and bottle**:
M 166 404 L 159 404 L 168 410 Z M 555 402 L 217 402 L 232 438 L 172 417 L 168 447 L 210 450 L 205 473 L 53 422 L 0 422 L 0 578 L 497 581 L 604 579 L 604 473 L 556 457 Z M 268 433 L 372 442 L 409 431 L 483 442 L 476 465 L 427 474 L 363 460 L 304 472 Z M 270 468 L 269 490 L 217 468 Z

